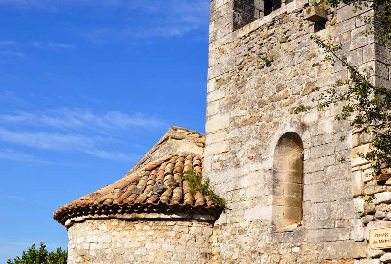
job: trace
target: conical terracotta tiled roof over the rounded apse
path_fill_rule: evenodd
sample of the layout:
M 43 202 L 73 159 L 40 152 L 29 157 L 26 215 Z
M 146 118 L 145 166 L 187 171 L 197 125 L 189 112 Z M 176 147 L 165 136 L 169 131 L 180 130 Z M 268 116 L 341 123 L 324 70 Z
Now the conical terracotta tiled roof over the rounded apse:
M 218 216 L 222 211 L 208 197 L 190 193 L 182 173 L 203 170 L 203 157 L 196 154 L 169 154 L 148 163 L 121 180 L 78 198 L 54 213 L 54 219 L 65 224 L 80 216 L 131 213 L 195 213 Z

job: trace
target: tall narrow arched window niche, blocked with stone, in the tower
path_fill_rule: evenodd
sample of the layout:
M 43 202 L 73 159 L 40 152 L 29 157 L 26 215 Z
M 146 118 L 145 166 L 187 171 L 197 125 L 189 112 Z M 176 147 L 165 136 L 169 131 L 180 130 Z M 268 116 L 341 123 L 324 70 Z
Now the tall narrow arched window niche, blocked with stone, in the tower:
M 303 219 L 303 141 L 285 133 L 274 150 L 273 225 L 288 227 Z

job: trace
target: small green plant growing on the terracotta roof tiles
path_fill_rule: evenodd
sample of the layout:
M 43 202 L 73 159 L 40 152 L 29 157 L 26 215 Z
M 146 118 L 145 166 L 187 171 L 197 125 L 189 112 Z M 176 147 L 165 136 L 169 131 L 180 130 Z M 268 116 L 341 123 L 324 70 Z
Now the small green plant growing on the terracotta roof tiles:
M 211 190 L 208 178 L 205 179 L 205 182 L 202 182 L 201 174 L 197 173 L 194 169 L 185 171 L 182 177 L 189 184 L 190 193 L 193 196 L 197 192 L 200 192 L 204 196 L 209 197 L 214 203 L 225 206 L 225 199 L 221 198 Z

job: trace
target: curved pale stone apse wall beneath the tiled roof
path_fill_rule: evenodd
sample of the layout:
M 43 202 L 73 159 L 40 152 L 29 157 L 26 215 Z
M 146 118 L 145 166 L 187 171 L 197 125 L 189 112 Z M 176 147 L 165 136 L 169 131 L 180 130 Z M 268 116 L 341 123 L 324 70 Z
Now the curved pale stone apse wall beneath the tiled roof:
M 210 258 L 207 222 L 94 219 L 68 232 L 68 264 L 202 264 Z

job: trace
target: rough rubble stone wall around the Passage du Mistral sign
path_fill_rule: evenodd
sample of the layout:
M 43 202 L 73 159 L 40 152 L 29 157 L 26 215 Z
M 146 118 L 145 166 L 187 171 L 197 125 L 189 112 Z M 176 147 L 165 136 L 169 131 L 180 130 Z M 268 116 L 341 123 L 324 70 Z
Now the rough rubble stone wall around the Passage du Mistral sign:
M 391 179 L 390 170 L 379 176 L 373 176 L 370 164 L 357 156 L 370 149 L 371 138 L 359 131 L 353 133 L 352 155 L 352 193 L 354 210 L 359 216 L 355 223 L 355 241 L 369 239 L 371 229 L 391 227 Z M 368 248 L 366 259 L 356 264 L 381 264 L 391 262 L 391 249 Z

